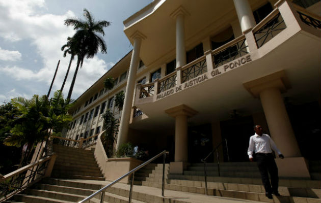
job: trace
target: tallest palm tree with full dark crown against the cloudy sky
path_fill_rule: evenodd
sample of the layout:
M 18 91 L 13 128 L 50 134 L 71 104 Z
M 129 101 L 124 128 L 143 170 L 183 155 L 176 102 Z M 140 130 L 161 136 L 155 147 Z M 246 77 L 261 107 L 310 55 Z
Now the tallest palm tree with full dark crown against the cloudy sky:
M 75 35 L 72 37 L 74 39 L 72 42 L 74 42 L 77 47 L 77 66 L 72 78 L 67 99 L 71 98 L 78 68 L 79 65 L 81 67 L 83 66 L 84 58 L 93 58 L 99 50 L 102 53 L 107 53 L 106 44 L 102 37 L 97 33 L 104 36 L 105 32 L 103 31 L 103 28 L 109 26 L 110 22 L 105 20 L 96 22 L 87 9 L 84 9 L 84 16 L 86 21 L 79 20 L 77 18 L 69 18 L 65 20 L 65 25 L 72 25 L 74 29 L 77 30 Z

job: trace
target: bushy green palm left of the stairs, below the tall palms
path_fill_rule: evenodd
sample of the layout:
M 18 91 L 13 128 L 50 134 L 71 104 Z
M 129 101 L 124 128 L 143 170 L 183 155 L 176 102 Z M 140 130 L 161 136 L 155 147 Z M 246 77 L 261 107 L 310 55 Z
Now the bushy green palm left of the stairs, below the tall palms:
M 69 99 L 65 99 L 57 90 L 49 100 L 46 95 L 34 95 L 31 99 L 16 97 L 11 99 L 13 107 L 19 110 L 14 120 L 14 127 L 4 140 L 7 146 L 20 147 L 27 143 L 26 160 L 31 155 L 35 143 L 46 140 L 52 134 L 59 135 L 63 127 L 72 120 L 67 114 L 71 107 Z

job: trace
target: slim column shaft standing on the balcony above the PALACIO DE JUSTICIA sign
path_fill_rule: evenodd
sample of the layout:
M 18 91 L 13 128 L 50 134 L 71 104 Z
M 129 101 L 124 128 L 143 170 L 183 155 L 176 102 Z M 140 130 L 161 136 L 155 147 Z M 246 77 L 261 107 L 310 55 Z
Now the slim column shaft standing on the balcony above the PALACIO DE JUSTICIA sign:
M 176 67 L 186 64 L 184 15 L 176 16 Z

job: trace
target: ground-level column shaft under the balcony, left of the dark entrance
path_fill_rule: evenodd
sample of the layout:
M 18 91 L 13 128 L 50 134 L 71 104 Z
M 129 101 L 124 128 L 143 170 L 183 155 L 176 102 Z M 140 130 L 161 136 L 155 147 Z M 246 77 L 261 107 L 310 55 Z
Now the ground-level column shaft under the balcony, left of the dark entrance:
M 175 117 L 175 162 L 188 161 L 188 116 Z

